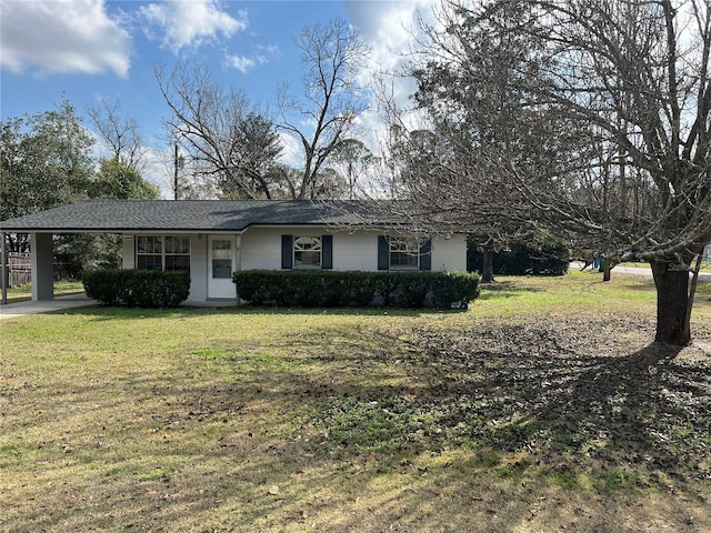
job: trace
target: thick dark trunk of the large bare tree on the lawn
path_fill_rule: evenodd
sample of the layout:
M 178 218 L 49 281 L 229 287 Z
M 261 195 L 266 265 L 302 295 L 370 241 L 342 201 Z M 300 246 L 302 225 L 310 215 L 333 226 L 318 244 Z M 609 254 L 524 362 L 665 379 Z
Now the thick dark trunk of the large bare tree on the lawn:
M 685 346 L 691 342 L 689 271 L 674 270 L 677 263 L 652 261 L 657 286 L 657 335 L 654 342 Z

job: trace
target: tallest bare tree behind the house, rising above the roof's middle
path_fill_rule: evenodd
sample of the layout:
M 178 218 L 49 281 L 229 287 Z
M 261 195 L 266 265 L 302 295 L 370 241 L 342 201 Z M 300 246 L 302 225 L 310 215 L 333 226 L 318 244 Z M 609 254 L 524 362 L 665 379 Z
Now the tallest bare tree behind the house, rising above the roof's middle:
M 364 109 L 357 71 L 368 49 L 340 19 L 306 28 L 296 42 L 302 51 L 303 99 L 280 89 L 279 128 L 294 135 L 303 150 L 303 172 L 293 189 L 296 198 L 306 199 L 318 195 L 326 162 Z

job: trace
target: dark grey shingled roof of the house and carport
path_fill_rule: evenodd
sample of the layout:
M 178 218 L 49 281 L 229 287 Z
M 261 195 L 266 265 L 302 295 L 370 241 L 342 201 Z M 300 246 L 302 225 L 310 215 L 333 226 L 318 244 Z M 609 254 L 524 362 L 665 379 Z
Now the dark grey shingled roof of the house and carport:
M 363 202 L 89 200 L 0 222 L 12 232 L 241 231 L 250 225 L 358 223 Z

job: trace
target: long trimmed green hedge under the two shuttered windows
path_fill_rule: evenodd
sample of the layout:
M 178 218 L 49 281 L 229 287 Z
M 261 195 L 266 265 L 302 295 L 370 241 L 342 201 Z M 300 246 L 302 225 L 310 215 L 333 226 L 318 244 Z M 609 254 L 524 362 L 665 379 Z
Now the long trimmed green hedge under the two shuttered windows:
M 464 272 L 243 270 L 232 274 L 241 299 L 258 305 L 465 309 L 479 275 Z

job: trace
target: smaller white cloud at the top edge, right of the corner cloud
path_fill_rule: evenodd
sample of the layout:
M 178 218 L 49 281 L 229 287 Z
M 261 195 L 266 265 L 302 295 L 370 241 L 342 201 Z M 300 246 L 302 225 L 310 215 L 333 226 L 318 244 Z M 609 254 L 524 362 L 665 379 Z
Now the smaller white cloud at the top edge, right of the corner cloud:
M 239 11 L 234 19 L 218 0 L 168 0 L 143 6 L 139 12 L 150 24 L 147 34 L 152 37 L 157 27 L 163 33 L 162 46 L 173 53 L 214 41 L 220 33 L 231 37 L 249 26 L 247 11 Z

